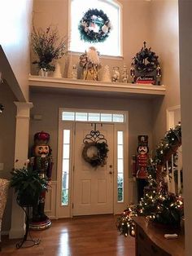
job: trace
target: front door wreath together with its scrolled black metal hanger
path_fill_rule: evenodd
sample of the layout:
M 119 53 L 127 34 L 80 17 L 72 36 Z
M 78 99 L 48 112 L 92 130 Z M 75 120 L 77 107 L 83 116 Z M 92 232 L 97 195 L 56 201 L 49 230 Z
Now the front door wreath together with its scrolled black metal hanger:
M 106 165 L 107 152 L 109 151 L 107 139 L 100 134 L 99 130 L 96 130 L 96 124 L 94 124 L 94 130 L 91 130 L 89 135 L 85 136 L 83 143 L 85 143 L 85 146 L 82 151 L 82 157 L 86 162 L 92 167 Z

